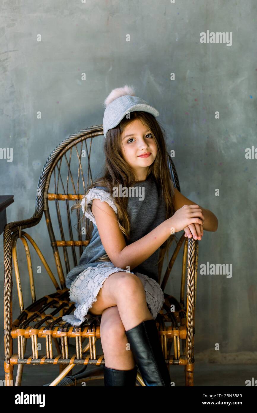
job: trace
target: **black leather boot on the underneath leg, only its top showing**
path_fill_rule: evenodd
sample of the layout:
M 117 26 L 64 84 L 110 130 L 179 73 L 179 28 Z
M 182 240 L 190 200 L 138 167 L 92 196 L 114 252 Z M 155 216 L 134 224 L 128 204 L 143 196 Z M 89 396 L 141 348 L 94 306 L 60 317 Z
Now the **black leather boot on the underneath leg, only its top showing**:
M 116 370 L 104 366 L 104 386 L 135 386 L 137 378 L 137 366 L 132 370 Z

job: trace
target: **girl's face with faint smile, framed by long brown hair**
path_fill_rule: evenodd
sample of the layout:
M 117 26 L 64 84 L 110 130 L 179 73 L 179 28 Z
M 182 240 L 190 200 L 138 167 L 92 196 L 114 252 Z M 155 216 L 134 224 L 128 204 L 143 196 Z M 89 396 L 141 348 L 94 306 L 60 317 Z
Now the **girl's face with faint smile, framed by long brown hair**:
M 139 120 L 135 119 L 125 127 L 121 135 L 121 150 L 127 164 L 134 170 L 138 180 L 144 180 L 148 167 L 157 154 L 156 143 L 151 131 Z M 142 154 L 150 154 L 141 157 Z

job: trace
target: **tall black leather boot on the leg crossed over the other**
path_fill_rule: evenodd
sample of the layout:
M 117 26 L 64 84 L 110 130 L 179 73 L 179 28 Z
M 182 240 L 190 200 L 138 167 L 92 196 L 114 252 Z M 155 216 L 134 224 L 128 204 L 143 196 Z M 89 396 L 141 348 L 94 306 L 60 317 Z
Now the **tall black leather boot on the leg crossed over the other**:
M 130 349 L 146 386 L 170 386 L 156 321 L 146 320 L 125 331 Z

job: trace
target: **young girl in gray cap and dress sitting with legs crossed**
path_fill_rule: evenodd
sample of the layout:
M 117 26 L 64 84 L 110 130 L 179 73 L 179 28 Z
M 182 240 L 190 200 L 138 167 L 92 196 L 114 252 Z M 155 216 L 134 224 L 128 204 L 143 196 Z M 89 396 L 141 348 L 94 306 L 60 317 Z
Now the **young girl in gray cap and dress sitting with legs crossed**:
M 146 386 L 170 386 L 155 321 L 164 302 L 159 248 L 167 252 L 181 230 L 201 240 L 218 220 L 174 188 L 159 112 L 127 85 L 104 104 L 105 173 L 81 202 L 94 229 L 66 278 L 74 315 L 62 318 L 101 322 L 105 386 L 134 386 L 137 366 Z

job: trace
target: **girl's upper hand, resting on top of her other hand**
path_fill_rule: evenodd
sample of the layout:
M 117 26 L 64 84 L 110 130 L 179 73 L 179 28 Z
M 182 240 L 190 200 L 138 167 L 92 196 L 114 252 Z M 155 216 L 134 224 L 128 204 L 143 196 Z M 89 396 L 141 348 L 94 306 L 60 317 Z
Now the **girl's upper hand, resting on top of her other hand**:
M 189 227 L 191 224 L 203 225 L 204 215 L 199 205 L 184 205 L 179 208 L 167 221 L 174 233 Z M 171 232 L 172 233 L 172 232 Z

